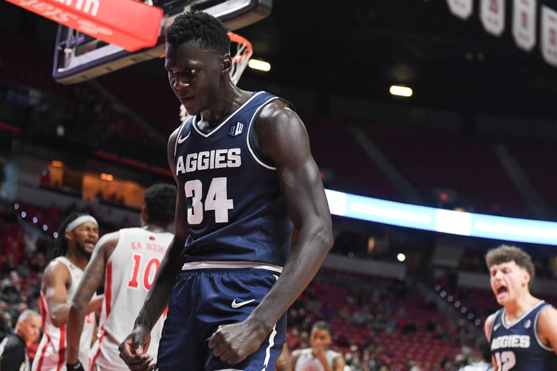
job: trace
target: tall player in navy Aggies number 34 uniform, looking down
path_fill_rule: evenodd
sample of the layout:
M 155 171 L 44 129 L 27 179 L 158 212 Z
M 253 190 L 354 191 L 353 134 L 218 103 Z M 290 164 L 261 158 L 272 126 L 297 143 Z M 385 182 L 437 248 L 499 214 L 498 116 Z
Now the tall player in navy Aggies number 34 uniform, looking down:
M 120 345 L 133 370 L 155 368 L 148 334 L 166 303 L 159 370 L 274 369 L 285 311 L 333 243 L 304 124 L 280 98 L 233 84 L 229 47 L 206 13 L 166 31 L 168 80 L 191 116 L 168 140 L 176 235 Z

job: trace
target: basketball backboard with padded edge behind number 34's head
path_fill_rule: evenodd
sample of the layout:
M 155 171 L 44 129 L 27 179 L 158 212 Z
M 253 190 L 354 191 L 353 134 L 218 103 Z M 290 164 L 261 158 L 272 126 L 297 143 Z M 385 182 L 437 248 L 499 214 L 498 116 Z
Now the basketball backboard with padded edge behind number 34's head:
M 81 81 L 164 55 L 164 32 L 180 13 L 203 10 L 221 19 L 231 31 L 264 19 L 272 0 L 153 0 L 145 1 L 164 11 L 157 45 L 127 52 L 66 26 L 58 25 L 52 77 L 61 84 Z

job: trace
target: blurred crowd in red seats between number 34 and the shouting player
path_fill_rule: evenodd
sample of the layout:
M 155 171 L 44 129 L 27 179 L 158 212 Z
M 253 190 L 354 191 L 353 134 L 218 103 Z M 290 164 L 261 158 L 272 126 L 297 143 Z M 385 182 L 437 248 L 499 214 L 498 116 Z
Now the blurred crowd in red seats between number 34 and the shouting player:
M 345 370 L 460 370 L 481 358 L 478 329 L 451 322 L 414 285 L 393 278 L 320 271 L 289 310 L 289 348 L 309 347 L 319 320 L 331 325 Z

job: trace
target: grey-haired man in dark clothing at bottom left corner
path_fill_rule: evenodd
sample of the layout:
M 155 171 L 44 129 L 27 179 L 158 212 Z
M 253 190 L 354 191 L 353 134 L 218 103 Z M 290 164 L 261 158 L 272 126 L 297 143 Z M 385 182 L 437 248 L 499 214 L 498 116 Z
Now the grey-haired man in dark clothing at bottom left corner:
M 0 343 L 0 370 L 29 371 L 26 343 L 37 340 L 39 331 L 40 315 L 34 310 L 24 310 L 17 319 L 15 333 Z

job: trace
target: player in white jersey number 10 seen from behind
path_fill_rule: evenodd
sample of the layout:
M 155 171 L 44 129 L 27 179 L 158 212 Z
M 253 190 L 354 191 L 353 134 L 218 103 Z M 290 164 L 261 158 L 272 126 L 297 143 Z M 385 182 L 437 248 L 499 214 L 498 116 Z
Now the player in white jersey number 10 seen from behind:
M 141 228 L 125 228 L 100 239 L 91 262 L 72 301 L 68 319 L 68 370 L 80 370 L 79 338 L 87 303 L 104 278 L 104 305 L 100 331 L 89 370 L 127 371 L 118 345 L 134 327 L 134 319 L 173 235 L 167 232 L 174 221 L 176 187 L 155 184 L 147 189 L 141 210 Z M 152 329 L 151 355 L 157 358 L 162 318 Z

